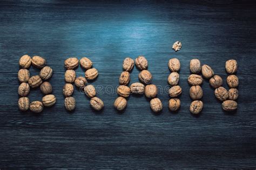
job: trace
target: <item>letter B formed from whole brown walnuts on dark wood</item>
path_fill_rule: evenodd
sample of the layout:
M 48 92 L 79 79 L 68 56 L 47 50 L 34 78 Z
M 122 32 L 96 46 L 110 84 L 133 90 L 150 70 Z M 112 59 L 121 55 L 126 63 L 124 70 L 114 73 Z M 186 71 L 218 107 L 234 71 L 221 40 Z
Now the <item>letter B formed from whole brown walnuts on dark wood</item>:
M 29 68 L 30 66 L 41 69 L 39 75 L 30 77 Z M 32 59 L 29 55 L 23 55 L 19 59 L 18 80 L 21 84 L 18 87 L 18 94 L 21 96 L 18 100 L 18 107 L 21 111 L 31 110 L 32 112 L 42 112 L 44 107 L 50 107 L 56 103 L 56 97 L 52 95 L 52 86 L 48 80 L 52 76 L 52 68 L 46 66 L 46 61 L 41 56 L 33 56 Z M 44 81 L 44 82 L 43 82 Z M 30 103 L 29 95 L 30 87 L 39 87 L 42 93 L 45 95 L 42 101 L 33 101 Z

